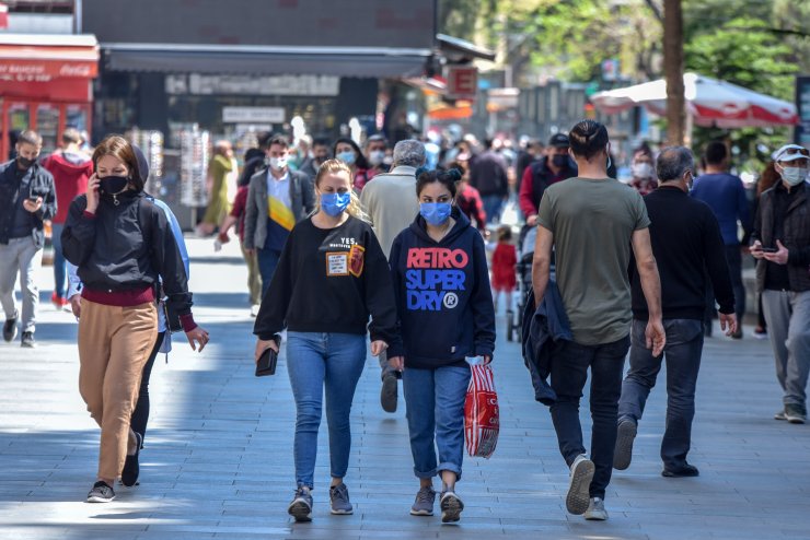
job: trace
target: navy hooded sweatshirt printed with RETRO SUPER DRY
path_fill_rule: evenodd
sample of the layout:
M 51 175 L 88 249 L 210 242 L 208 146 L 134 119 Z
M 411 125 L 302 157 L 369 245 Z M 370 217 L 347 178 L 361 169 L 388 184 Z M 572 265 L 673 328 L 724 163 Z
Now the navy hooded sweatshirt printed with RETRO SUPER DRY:
M 464 366 L 465 357 L 491 357 L 495 350 L 484 240 L 458 208 L 452 218 L 453 228 L 437 243 L 417 215 L 391 248 L 406 367 Z

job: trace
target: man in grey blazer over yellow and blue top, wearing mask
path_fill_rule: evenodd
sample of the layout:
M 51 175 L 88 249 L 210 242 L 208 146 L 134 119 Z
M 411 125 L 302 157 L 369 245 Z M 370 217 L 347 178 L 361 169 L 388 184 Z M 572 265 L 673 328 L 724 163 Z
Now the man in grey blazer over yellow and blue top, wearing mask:
M 251 178 L 245 210 L 244 248 L 256 255 L 262 296 L 270 285 L 287 237 L 296 223 L 315 209 L 312 179 L 287 163 L 289 142 L 274 136 L 267 145 L 269 166 Z

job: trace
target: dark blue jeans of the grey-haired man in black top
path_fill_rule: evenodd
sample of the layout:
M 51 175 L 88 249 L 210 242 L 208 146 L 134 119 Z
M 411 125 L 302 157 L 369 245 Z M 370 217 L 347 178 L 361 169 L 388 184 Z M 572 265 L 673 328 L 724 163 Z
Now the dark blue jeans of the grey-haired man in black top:
M 618 420 L 638 423 L 661 363 L 667 357 L 667 426 L 661 441 L 661 459 L 667 470 L 686 466 L 686 454 L 692 444 L 692 420 L 695 418 L 695 387 L 703 354 L 702 321 L 668 319 L 663 321 L 667 345 L 663 354 L 655 357 L 647 349 L 644 331 L 647 322 L 633 320 L 630 332 L 630 369 L 622 384 L 618 400 Z

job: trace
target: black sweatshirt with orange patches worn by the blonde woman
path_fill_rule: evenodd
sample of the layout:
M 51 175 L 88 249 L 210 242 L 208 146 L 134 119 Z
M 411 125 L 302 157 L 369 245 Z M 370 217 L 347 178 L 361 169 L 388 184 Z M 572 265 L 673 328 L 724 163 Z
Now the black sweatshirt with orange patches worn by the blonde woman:
M 371 226 L 351 216 L 335 228 L 319 228 L 312 219 L 298 223 L 262 300 L 253 333 L 263 340 L 285 328 L 364 336 L 367 326 L 372 341 L 389 344 L 389 355 L 401 354 L 389 263 Z

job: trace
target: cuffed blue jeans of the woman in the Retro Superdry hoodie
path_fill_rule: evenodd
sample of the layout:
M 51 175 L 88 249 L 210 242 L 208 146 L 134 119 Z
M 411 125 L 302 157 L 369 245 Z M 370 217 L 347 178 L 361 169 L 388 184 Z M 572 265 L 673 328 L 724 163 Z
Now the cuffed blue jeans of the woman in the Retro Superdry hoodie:
M 417 478 L 432 478 L 438 472 L 452 471 L 461 480 L 464 399 L 470 384 L 470 367 L 408 367 L 402 373 L 402 381 L 414 474 Z

